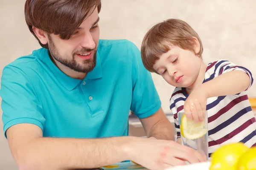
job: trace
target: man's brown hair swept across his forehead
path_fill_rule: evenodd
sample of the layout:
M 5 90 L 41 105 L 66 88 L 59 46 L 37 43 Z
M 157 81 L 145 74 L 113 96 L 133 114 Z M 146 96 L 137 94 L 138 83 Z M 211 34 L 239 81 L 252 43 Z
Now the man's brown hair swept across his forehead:
M 38 40 L 32 26 L 47 34 L 59 35 L 61 39 L 70 39 L 92 8 L 101 9 L 101 0 L 26 0 L 25 20 L 29 31 Z M 48 44 L 39 44 L 48 48 Z

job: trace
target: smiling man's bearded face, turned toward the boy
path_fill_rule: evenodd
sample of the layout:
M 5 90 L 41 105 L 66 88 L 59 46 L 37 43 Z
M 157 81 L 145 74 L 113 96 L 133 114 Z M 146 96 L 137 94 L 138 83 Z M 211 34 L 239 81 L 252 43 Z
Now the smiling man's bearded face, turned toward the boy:
M 54 34 L 48 35 L 49 52 L 55 62 L 81 73 L 92 71 L 96 65 L 96 51 L 99 43 L 98 21 L 99 15 L 96 8 L 69 40 L 62 40 Z

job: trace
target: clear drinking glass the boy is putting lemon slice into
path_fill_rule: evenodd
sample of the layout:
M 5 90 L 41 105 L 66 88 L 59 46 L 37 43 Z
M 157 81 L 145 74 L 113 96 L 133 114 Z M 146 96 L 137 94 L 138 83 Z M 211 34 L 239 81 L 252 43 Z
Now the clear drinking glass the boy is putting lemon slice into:
M 181 119 L 183 117 L 183 115 L 185 115 L 185 113 L 178 113 L 178 120 L 179 120 L 179 124 L 180 124 L 180 128 L 181 128 Z M 188 146 L 188 147 L 192 147 L 193 149 L 197 150 L 199 153 L 201 153 L 203 156 L 206 157 L 206 160 L 208 161 L 209 160 L 209 154 L 208 154 L 208 116 L 207 116 L 207 111 L 204 112 L 204 115 L 205 115 L 205 119 L 204 119 L 204 122 L 203 123 L 203 126 L 202 127 L 197 127 L 197 126 L 193 126 L 192 125 L 192 128 L 190 129 L 186 129 L 186 128 L 183 128 L 183 131 L 184 130 L 193 130 L 193 131 L 204 131 L 206 132 L 205 134 L 203 134 L 202 136 L 199 135 L 198 138 L 196 139 L 187 139 L 185 138 L 182 133 L 180 133 L 180 136 L 181 136 L 181 144 L 185 145 L 185 146 Z M 186 115 L 185 115 L 186 116 Z

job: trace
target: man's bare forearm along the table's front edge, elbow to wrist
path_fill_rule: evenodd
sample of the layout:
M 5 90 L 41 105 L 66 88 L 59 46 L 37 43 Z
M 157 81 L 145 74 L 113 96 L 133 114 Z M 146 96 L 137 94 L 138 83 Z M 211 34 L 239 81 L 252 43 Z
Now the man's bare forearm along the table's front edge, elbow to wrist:
M 126 160 L 131 137 L 105 139 L 38 138 L 17 151 L 20 170 L 96 168 Z

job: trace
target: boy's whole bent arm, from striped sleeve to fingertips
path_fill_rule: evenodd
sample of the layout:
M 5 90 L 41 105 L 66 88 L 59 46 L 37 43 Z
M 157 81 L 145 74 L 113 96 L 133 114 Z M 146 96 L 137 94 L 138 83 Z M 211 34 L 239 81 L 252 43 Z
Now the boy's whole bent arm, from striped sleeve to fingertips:
M 239 94 L 253 83 L 253 77 L 247 68 L 237 66 L 229 61 L 220 60 L 215 67 L 215 78 L 203 83 L 192 91 L 186 99 L 184 111 L 195 122 L 204 120 L 207 98 Z

